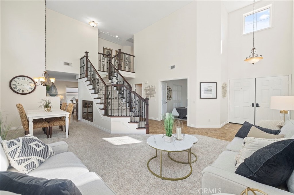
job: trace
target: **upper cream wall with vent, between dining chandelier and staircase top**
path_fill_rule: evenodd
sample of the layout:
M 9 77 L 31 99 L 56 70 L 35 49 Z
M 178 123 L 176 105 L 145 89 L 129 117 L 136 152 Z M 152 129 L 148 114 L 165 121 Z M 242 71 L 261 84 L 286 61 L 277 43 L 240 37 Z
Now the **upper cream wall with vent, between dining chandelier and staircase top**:
M 98 64 L 98 28 L 46 9 L 46 29 L 47 70 L 79 74 L 85 51 L 93 65 Z M 73 66 L 64 66 L 64 61 Z

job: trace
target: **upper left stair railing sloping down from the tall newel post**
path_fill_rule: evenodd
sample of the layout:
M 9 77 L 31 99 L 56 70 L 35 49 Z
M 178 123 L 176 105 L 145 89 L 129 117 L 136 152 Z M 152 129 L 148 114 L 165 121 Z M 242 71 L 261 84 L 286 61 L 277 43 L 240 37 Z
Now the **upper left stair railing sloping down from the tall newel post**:
M 89 52 L 85 52 L 85 55 L 80 58 L 80 60 L 81 60 L 81 78 L 83 78 L 83 77 L 88 78 L 87 81 L 90 82 L 90 84 L 92 85 L 91 89 L 94 90 L 94 93 L 92 93 L 92 94 L 97 95 L 97 97 L 95 99 L 99 99 L 100 100 L 99 104 L 103 104 L 104 105 L 103 107 L 105 108 L 106 99 L 105 99 L 104 93 L 105 93 L 106 83 L 103 81 L 101 76 L 98 74 L 95 67 L 91 63 L 91 61 L 88 59 L 88 53 Z M 83 73 L 82 70 L 85 70 L 84 71 L 85 73 Z

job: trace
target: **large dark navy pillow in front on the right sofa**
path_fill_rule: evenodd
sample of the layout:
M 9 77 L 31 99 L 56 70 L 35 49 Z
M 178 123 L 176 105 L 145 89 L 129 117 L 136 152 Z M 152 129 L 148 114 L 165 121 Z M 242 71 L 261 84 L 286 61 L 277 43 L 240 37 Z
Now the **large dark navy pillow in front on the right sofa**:
M 236 169 L 235 173 L 273 187 L 285 182 L 294 170 L 294 139 L 265 146 Z

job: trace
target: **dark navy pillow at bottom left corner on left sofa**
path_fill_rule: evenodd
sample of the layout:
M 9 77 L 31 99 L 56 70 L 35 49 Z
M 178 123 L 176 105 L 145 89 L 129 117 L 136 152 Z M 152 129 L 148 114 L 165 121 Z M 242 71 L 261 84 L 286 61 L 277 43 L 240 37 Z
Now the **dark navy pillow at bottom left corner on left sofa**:
M 23 173 L 1 171 L 0 189 L 18 194 L 75 194 L 81 195 L 76 185 L 68 179 L 45 179 Z

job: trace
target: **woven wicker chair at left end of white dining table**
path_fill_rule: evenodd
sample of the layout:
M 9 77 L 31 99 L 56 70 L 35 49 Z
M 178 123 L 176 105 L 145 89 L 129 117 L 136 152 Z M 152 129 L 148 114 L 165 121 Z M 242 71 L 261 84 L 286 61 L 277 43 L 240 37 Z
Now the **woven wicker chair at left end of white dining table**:
M 22 127 L 24 128 L 24 134 L 27 135 L 29 133 L 29 121 L 28 117 L 26 117 L 26 112 L 24 111 L 24 107 L 21 104 L 16 104 L 16 108 L 19 112 L 19 116 L 21 119 Z M 43 128 L 44 133 L 47 134 L 47 138 L 49 138 L 49 123 L 44 119 L 33 119 L 33 129 Z

